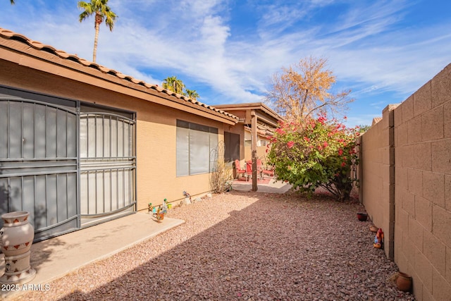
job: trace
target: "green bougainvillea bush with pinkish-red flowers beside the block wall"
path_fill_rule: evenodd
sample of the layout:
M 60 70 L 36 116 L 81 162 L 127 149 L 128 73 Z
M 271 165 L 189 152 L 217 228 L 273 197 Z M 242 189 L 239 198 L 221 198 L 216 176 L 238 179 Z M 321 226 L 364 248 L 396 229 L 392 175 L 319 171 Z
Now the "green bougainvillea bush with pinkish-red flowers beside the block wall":
M 302 192 L 324 188 L 339 201 L 350 198 L 358 164 L 359 129 L 319 116 L 303 123 L 280 123 L 268 147 L 277 180 Z

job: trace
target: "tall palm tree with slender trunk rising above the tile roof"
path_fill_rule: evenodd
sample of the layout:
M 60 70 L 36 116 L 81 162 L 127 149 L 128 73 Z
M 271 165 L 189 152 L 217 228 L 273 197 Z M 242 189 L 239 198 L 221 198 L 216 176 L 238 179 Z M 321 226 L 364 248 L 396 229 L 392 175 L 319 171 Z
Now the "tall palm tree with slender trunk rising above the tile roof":
M 78 8 L 83 9 L 84 11 L 80 13 L 79 20 L 80 23 L 82 20 L 85 20 L 89 16 L 95 14 L 94 27 L 96 29 L 96 35 L 94 37 L 94 52 L 92 54 L 92 61 L 95 63 L 97 56 L 97 40 L 99 39 L 99 25 L 104 21 L 107 27 L 110 28 L 110 31 L 113 31 L 114 22 L 116 21 L 116 13 L 111 11 L 109 8 L 108 0 L 91 0 L 91 2 L 78 1 Z

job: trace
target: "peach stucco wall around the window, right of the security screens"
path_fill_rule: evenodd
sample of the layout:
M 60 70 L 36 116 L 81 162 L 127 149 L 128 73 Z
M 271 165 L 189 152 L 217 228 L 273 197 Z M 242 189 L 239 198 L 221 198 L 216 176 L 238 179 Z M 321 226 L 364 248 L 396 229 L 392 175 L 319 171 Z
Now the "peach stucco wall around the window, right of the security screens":
M 183 177 L 175 174 L 175 121 L 182 119 L 218 128 L 218 141 L 223 141 L 223 124 L 164 106 L 144 106 L 137 114 L 138 209 L 149 202 L 160 204 L 164 198 L 168 202 L 182 199 L 184 190 L 192 196 L 209 192 L 208 173 Z

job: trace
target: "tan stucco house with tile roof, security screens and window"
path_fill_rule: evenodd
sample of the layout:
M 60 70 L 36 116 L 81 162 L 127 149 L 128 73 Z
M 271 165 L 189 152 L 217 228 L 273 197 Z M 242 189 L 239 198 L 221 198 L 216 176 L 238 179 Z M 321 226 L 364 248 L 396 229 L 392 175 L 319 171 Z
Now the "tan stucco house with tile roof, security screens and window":
M 204 195 L 239 121 L 2 28 L 0 70 L 0 214 L 35 240 Z

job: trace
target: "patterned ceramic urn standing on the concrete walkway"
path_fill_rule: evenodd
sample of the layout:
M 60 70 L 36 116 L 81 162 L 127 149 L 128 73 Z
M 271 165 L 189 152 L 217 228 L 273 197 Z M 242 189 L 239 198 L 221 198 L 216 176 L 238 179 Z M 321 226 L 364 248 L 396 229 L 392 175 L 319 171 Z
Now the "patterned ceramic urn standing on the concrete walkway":
M 28 222 L 29 215 L 27 211 L 14 211 L 1 216 L 4 225 L 0 230 L 0 248 L 5 255 L 5 273 L 0 283 L 22 284 L 36 276 L 30 266 L 35 229 Z

